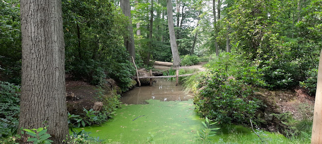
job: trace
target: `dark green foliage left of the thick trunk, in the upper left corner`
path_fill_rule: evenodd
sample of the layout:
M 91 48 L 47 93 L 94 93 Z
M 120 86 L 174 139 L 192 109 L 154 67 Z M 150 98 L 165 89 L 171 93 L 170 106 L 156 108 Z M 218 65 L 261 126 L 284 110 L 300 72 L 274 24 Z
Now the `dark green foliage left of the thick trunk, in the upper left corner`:
M 21 81 L 21 32 L 18 0 L 0 1 L 0 80 Z

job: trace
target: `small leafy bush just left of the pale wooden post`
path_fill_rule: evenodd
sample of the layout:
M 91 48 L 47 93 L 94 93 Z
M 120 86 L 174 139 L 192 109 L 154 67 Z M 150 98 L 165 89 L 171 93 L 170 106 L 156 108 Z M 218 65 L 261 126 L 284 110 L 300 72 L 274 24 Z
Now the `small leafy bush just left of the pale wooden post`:
M 311 69 L 306 72 L 307 79 L 300 81 L 300 86 L 309 90 L 309 94 L 315 95 L 318 83 L 318 69 Z

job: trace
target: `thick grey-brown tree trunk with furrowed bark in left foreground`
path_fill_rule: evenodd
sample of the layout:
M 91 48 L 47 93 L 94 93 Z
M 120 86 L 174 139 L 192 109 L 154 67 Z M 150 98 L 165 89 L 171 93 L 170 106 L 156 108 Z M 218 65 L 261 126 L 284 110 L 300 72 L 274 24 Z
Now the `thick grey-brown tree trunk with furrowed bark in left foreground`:
M 20 0 L 20 13 L 22 87 L 19 128 L 49 125 L 50 139 L 54 144 L 61 144 L 69 134 L 61 0 Z M 48 123 L 43 124 L 45 121 Z

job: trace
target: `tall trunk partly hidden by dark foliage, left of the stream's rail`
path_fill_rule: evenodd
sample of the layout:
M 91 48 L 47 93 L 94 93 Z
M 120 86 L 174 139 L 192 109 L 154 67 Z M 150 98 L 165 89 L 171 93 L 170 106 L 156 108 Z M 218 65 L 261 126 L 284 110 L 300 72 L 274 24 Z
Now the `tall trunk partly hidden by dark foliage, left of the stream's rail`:
M 130 35 L 124 36 L 124 45 L 126 47 L 126 50 L 130 53 L 130 56 L 132 56 L 135 60 L 135 46 L 134 46 L 132 20 L 131 20 L 130 0 L 120 0 L 120 5 L 124 15 L 129 18 L 129 25 L 127 26 L 127 29 Z

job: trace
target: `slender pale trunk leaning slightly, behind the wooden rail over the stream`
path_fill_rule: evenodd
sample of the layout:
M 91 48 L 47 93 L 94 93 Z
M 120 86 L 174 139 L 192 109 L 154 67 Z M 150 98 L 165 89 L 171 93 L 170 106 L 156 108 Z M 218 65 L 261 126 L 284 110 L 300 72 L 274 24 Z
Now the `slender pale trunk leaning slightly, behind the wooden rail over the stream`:
M 172 14 L 172 3 L 171 0 L 166 1 L 166 9 L 168 14 L 168 27 L 169 27 L 169 36 L 170 36 L 170 44 L 173 58 L 173 67 L 179 67 L 180 65 L 180 57 L 179 51 L 177 47 L 177 42 L 175 41 L 175 32 L 173 26 L 173 14 Z

